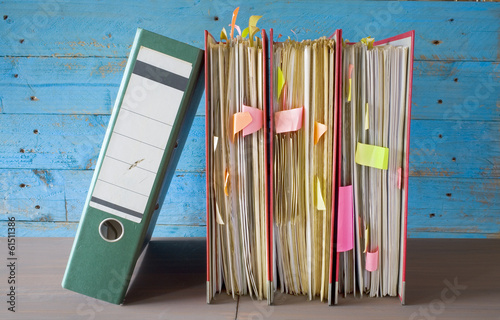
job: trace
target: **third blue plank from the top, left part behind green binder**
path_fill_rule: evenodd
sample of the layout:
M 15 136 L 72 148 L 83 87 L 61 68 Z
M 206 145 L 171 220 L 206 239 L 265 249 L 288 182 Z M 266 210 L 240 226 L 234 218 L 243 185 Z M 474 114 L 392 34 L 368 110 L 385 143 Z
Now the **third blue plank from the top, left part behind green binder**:
M 0 168 L 94 169 L 108 122 L 104 115 L 0 114 Z M 195 117 L 178 171 L 204 170 L 204 143 L 205 118 Z

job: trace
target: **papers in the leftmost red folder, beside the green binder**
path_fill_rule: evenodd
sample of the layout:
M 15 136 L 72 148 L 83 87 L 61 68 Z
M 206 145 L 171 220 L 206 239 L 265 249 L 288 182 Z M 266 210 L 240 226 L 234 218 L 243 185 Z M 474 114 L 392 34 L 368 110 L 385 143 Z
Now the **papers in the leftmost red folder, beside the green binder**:
M 265 33 L 206 34 L 208 284 L 228 294 L 268 296 Z

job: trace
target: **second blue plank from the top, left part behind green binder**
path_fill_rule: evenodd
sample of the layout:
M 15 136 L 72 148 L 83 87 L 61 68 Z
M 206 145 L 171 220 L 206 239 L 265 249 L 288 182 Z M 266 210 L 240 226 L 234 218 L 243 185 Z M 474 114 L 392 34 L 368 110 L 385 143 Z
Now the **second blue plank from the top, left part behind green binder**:
M 110 114 L 126 62 L 124 58 L 2 57 L 0 113 Z M 198 113 L 205 113 L 204 103 Z

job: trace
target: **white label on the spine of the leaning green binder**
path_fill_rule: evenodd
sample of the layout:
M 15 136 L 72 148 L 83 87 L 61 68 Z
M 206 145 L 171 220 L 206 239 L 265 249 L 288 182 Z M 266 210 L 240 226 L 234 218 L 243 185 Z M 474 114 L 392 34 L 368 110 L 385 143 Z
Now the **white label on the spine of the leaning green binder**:
M 139 49 L 91 207 L 141 222 L 191 70 L 189 62 Z

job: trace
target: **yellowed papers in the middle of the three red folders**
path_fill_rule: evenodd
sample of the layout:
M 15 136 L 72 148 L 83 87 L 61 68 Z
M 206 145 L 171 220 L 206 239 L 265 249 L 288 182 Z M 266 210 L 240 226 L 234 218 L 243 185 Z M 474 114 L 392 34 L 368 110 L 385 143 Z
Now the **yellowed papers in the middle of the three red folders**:
M 336 41 L 272 47 L 275 288 L 328 298 L 337 130 Z

